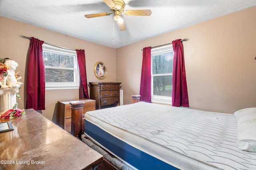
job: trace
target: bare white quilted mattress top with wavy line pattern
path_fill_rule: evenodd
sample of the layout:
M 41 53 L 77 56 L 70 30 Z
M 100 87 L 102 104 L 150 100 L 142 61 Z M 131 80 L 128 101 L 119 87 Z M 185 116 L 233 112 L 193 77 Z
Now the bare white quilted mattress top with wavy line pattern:
M 236 118 L 138 102 L 88 111 L 85 119 L 179 169 L 256 169 L 256 152 L 236 146 Z

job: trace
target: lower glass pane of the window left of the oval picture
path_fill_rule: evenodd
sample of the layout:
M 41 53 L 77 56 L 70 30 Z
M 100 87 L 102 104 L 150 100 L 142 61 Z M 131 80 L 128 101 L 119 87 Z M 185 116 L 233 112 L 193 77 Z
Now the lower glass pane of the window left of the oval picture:
M 74 82 L 74 70 L 45 68 L 45 75 L 45 82 Z

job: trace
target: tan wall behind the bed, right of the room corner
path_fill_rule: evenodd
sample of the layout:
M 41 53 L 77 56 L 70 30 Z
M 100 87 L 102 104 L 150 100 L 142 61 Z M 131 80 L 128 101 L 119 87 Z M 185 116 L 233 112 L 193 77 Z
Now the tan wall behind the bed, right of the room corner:
M 256 107 L 255 21 L 256 6 L 116 49 L 124 104 L 140 92 L 141 49 L 188 38 L 183 45 L 190 108 L 233 113 Z

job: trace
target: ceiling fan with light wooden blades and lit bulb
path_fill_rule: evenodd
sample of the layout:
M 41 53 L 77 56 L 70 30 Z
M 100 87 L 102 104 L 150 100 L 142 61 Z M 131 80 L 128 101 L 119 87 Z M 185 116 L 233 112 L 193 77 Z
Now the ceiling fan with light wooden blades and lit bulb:
M 150 16 L 152 14 L 151 10 L 126 10 L 124 11 L 125 3 L 123 0 L 103 0 L 109 7 L 111 12 L 103 12 L 98 14 L 88 14 L 84 15 L 86 18 L 94 18 L 101 16 L 109 16 L 110 14 L 114 14 L 114 20 L 117 21 L 118 26 L 121 31 L 126 30 L 124 25 L 124 20 L 121 17 L 121 14 L 130 16 Z

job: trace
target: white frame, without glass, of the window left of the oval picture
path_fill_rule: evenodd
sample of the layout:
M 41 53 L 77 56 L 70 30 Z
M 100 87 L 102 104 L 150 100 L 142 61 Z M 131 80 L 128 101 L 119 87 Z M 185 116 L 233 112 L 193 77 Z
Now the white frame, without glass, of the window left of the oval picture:
M 58 67 L 58 66 L 44 66 L 44 68 L 74 70 L 74 82 L 45 82 L 45 90 L 61 90 L 61 89 L 79 89 L 80 72 L 78 68 L 77 54 L 75 50 L 56 47 L 54 45 L 44 43 L 42 45 L 43 52 L 52 52 L 62 55 L 74 56 L 74 68 Z M 46 76 L 46 75 L 45 75 Z

